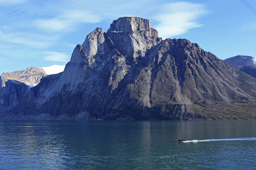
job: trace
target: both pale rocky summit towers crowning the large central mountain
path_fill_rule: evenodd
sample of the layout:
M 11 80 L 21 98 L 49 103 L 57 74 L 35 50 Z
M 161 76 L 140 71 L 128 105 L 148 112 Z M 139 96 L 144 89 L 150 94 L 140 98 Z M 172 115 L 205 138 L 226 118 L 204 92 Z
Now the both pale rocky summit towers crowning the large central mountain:
M 121 17 L 113 21 L 107 32 L 99 27 L 90 32 L 84 43 L 74 49 L 71 62 L 83 61 L 88 63 L 88 66 L 95 66 L 100 53 L 106 53 L 112 48 L 124 55 L 127 62 L 137 62 L 137 57 L 144 57 L 147 50 L 161 41 L 149 20 L 140 17 Z

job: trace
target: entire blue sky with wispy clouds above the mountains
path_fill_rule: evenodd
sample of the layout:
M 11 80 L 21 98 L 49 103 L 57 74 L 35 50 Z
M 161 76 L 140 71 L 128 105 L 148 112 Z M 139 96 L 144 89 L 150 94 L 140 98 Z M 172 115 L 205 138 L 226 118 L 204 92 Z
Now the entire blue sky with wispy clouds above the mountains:
M 186 38 L 220 59 L 256 57 L 255 0 L 0 0 L 0 74 L 66 64 L 96 27 L 148 18 L 163 38 Z

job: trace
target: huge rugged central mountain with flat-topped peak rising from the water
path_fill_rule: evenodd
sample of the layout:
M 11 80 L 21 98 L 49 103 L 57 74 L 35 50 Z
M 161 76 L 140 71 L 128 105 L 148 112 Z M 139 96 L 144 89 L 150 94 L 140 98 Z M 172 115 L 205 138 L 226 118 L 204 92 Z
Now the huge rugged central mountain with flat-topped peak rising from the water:
M 77 45 L 2 118 L 255 119 L 256 79 L 187 39 L 161 39 L 150 21 L 114 20 Z

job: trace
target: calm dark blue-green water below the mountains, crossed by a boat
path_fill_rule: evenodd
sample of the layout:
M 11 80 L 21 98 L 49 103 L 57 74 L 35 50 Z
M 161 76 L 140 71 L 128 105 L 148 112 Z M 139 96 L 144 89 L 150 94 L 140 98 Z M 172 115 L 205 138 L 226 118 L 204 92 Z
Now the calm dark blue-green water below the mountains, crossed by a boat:
M 255 169 L 252 137 L 252 121 L 0 122 L 0 169 Z

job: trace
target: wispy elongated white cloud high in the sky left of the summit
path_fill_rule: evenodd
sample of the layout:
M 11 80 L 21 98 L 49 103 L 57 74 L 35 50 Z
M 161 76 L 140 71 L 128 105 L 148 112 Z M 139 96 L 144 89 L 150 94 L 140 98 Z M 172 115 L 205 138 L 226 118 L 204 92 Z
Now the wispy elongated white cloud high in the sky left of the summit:
M 81 23 L 97 23 L 101 18 L 87 11 L 69 10 L 49 19 L 37 19 L 34 25 L 44 31 L 69 31 Z

